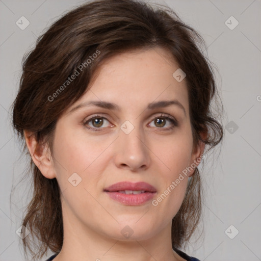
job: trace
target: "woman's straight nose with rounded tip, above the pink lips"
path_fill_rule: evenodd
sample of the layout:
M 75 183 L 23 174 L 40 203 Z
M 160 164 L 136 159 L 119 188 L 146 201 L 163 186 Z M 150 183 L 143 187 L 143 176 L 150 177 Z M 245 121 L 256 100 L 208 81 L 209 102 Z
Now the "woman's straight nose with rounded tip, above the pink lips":
M 128 134 L 120 130 L 115 143 L 115 165 L 131 171 L 147 169 L 151 160 L 146 143 L 145 137 L 140 133 L 138 127 L 134 127 Z

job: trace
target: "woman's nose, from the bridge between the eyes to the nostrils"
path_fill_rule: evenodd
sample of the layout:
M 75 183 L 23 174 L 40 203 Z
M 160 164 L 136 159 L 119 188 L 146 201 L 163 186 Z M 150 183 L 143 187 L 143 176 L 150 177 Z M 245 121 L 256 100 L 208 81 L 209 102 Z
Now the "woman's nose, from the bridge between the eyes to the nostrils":
M 118 167 L 129 167 L 132 170 L 148 167 L 149 151 L 144 132 L 137 122 L 134 125 L 125 121 L 120 126 L 115 159 Z

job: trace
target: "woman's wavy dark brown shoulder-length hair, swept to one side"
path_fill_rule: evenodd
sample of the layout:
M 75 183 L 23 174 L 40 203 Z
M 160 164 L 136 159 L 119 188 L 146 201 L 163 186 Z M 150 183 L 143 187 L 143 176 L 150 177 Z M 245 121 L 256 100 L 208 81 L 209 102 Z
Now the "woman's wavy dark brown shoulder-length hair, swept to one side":
M 22 142 L 23 131 L 27 130 L 39 144 L 47 143 L 51 149 L 57 120 L 86 92 L 102 61 L 128 50 L 162 47 L 187 74 L 194 145 L 202 141 L 212 149 L 222 140 L 223 128 L 212 117 L 211 101 L 217 88 L 214 71 L 201 46 L 205 46 L 202 37 L 165 6 L 154 8 L 133 0 L 99 0 L 77 7 L 51 25 L 24 56 L 12 108 L 13 127 Z M 68 82 L 76 71 L 79 75 Z M 202 139 L 202 133 L 207 134 L 206 139 Z M 27 145 L 23 145 L 25 151 Z M 31 233 L 22 242 L 25 252 L 28 248 L 34 258 L 41 258 L 48 248 L 56 253 L 62 248 L 61 192 L 56 178 L 45 178 L 32 159 L 31 168 L 33 198 L 22 222 Z M 196 168 L 184 202 L 172 221 L 173 249 L 186 243 L 198 225 L 200 184 Z M 33 237 L 39 241 L 35 244 L 36 252 Z

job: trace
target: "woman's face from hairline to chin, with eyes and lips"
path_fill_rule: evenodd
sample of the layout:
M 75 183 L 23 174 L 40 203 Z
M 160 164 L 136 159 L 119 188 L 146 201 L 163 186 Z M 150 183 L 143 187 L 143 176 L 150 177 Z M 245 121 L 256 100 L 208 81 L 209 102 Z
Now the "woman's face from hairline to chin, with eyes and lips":
M 58 120 L 48 177 L 58 180 L 64 225 L 75 234 L 169 234 L 193 171 L 184 173 L 200 155 L 186 78 L 174 78 L 179 66 L 169 57 L 154 48 L 110 58 Z

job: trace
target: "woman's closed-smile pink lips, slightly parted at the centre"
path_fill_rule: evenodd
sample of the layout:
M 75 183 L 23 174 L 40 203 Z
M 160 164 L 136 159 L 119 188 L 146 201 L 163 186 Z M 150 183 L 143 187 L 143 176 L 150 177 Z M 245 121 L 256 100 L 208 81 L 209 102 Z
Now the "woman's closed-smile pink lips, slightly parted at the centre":
M 103 191 L 123 205 L 142 205 L 156 194 L 156 189 L 146 182 L 118 182 Z

